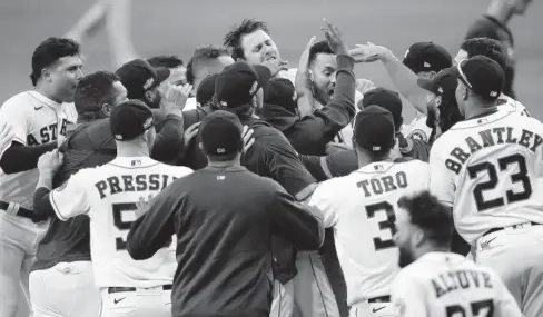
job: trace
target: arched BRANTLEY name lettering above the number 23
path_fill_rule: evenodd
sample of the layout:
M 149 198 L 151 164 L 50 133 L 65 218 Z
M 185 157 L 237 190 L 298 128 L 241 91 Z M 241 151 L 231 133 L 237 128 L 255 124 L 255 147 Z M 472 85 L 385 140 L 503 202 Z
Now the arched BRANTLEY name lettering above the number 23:
M 477 140 L 473 136 L 465 138 L 467 150 L 455 147 L 451 151 L 450 158 L 445 160 L 445 166 L 458 175 L 467 159 L 483 148 L 502 143 L 513 143 L 523 146 L 532 152 L 535 152 L 537 147 L 543 145 L 543 138 L 537 133 L 522 129 L 521 137 L 515 138 L 513 137 L 513 131 L 514 128 L 512 127 L 497 127 L 480 131 L 476 137 Z

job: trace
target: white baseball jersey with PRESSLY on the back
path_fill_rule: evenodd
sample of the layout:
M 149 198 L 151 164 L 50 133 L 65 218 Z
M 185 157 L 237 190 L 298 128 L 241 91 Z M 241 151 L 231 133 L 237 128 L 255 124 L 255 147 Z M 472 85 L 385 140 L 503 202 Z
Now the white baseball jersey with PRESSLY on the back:
M 190 174 L 148 157 L 117 157 L 97 168 L 82 169 L 49 198 L 61 220 L 90 217 L 90 251 L 97 287 L 157 287 L 172 283 L 175 251 L 160 249 L 147 260 L 134 260 L 126 238 L 137 219 L 136 202 L 156 196 L 175 179 Z

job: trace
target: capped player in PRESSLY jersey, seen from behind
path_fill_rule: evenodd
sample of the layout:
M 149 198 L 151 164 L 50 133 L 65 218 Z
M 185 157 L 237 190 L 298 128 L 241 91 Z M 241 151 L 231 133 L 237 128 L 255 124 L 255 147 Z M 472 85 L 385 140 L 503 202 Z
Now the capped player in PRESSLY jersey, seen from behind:
M 149 157 L 155 118 L 142 101 L 118 105 L 109 120 L 117 143 L 112 161 L 81 169 L 51 191 L 51 178 L 61 159 L 58 152 L 40 158 L 36 210 L 65 221 L 78 215 L 90 217 L 90 251 L 95 284 L 102 294 L 101 316 L 171 316 L 177 267 L 174 250 L 164 246 L 154 257 L 135 261 L 127 252 L 126 237 L 137 218 L 137 204 L 191 170 Z

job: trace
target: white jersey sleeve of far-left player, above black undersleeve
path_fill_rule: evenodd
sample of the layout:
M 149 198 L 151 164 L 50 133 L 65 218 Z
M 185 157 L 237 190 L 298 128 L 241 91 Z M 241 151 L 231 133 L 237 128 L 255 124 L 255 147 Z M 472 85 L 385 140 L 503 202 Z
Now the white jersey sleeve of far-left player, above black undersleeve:
M 0 107 L 0 127 L 6 125 L 11 131 L 9 139 L 1 140 L 2 145 L 4 142 L 10 145 L 12 141 L 27 145 L 29 122 L 24 111 L 26 107 L 21 105 L 24 100 L 21 99 L 23 99 L 21 96 L 12 97 Z

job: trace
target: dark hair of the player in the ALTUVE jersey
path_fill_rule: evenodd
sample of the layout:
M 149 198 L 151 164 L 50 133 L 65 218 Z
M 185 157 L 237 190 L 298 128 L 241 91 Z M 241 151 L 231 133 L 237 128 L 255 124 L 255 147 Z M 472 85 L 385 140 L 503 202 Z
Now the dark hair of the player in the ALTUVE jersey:
M 421 228 L 436 246 L 451 246 L 453 217 L 445 205 L 425 190 L 412 197 L 403 196 L 398 207 L 407 210 L 411 222 Z

